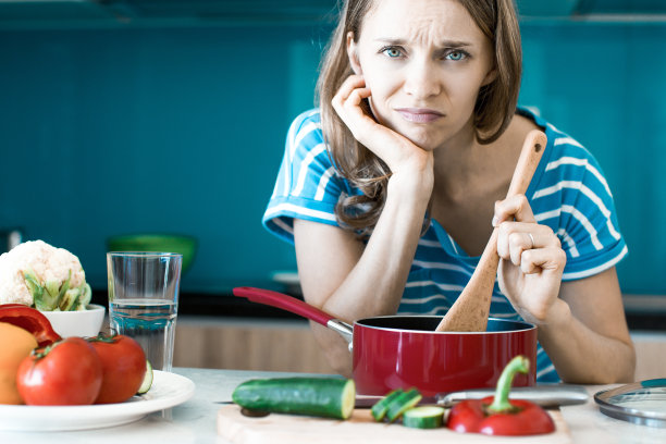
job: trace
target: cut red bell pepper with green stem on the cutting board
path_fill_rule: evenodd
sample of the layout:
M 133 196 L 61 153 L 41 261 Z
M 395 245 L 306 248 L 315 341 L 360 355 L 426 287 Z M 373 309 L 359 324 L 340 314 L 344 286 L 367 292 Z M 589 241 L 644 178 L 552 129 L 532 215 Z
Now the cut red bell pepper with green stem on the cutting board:
M 516 356 L 504 368 L 495 396 L 464 400 L 449 414 L 447 427 L 456 432 L 489 435 L 532 435 L 555 431 L 551 416 L 534 403 L 508 398 L 516 372 L 527 373 L 530 361 Z

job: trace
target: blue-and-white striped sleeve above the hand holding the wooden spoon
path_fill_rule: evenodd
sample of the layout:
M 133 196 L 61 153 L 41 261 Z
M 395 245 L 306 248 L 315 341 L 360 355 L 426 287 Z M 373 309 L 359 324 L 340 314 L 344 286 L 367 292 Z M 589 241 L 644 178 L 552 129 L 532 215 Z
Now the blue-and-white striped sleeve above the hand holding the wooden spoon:
M 564 133 L 552 131 L 551 139 L 532 209 L 536 222 L 559 237 L 567 254 L 563 280 L 572 281 L 609 269 L 628 250 L 610 188 L 594 157 Z

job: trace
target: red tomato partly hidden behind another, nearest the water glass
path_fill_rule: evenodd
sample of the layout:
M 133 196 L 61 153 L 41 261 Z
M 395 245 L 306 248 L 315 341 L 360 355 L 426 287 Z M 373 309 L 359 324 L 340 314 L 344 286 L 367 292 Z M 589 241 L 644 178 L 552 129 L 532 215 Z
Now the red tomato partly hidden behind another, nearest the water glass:
M 95 404 L 122 403 L 136 394 L 146 374 L 146 355 L 132 337 L 121 334 L 88 340 L 99 355 L 103 379 Z

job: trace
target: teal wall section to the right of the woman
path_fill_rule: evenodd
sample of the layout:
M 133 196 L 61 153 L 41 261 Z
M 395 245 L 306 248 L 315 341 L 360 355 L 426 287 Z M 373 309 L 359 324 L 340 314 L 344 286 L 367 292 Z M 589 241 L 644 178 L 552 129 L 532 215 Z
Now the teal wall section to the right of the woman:
M 666 294 L 666 23 L 522 26 L 520 101 L 582 143 L 614 193 L 625 293 Z

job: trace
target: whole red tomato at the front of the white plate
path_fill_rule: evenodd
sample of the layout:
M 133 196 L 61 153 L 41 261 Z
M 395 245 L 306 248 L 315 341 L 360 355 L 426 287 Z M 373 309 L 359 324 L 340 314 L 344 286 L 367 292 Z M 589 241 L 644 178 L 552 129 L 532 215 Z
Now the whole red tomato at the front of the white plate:
M 39 349 L 21 361 L 16 373 L 21 397 L 36 406 L 92 404 L 101 383 L 100 359 L 81 337 Z

